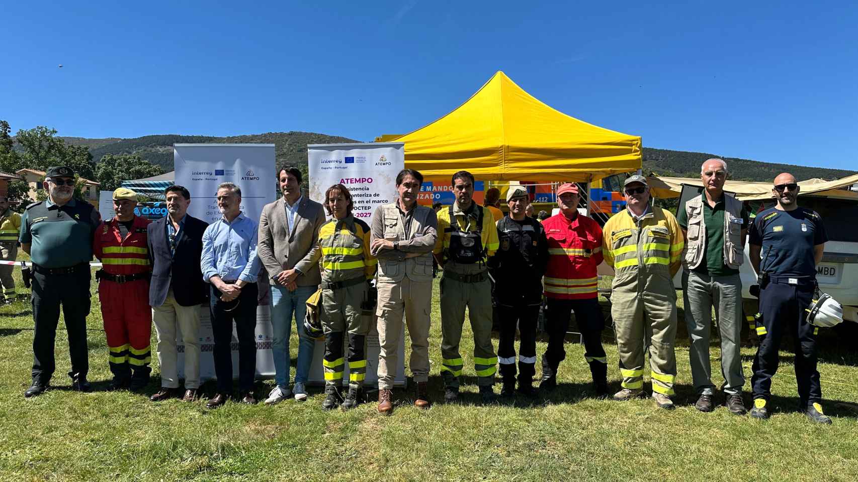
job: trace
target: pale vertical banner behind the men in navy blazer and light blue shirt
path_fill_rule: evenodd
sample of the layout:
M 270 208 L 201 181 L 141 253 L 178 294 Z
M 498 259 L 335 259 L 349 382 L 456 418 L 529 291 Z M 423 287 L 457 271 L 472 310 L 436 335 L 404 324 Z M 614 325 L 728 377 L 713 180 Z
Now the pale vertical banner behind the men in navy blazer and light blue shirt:
M 263 206 L 275 200 L 274 144 L 174 144 L 173 164 L 176 184 L 190 191 L 188 214 L 206 223 L 221 218 L 217 208 L 217 187 L 221 182 L 233 182 L 241 188 L 241 211 L 259 223 Z M 257 377 L 274 376 L 274 356 L 271 353 L 272 328 L 268 276 L 260 271 L 259 306 L 257 307 Z M 200 378 L 215 378 L 212 356 L 215 337 L 212 336 L 208 306 L 200 305 Z M 183 377 L 184 343 L 177 330 L 179 377 Z M 233 327 L 233 378 L 239 374 L 238 336 Z

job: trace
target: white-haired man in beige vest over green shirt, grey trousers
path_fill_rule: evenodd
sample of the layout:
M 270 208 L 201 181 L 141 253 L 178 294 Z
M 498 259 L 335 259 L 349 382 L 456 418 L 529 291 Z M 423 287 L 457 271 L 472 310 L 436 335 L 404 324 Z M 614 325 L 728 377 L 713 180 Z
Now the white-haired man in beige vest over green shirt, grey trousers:
M 677 222 L 686 237 L 682 265 L 682 291 L 685 301 L 686 326 L 691 338 L 688 350 L 692 378 L 701 412 L 715 409 L 712 397 L 715 385 L 711 381 L 709 356 L 712 306 L 721 335 L 721 372 L 724 404 L 737 415 L 745 414 L 742 402 L 742 373 L 740 348 L 742 283 L 739 266 L 744 260 L 748 213 L 740 200 L 724 194 L 727 163 L 709 159 L 701 166 L 700 178 L 704 192 L 680 207 Z

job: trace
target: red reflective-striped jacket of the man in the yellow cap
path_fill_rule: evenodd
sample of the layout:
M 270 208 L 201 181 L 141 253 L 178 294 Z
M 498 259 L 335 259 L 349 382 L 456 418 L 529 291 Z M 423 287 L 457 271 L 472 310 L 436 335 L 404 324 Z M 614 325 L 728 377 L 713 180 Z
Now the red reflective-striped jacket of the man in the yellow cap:
M 119 235 L 116 217 L 99 224 L 93 240 L 93 254 L 101 260 L 102 269 L 112 275 L 133 275 L 152 271 L 146 243 L 146 227 L 151 223 L 145 217 L 134 217 L 128 235 Z

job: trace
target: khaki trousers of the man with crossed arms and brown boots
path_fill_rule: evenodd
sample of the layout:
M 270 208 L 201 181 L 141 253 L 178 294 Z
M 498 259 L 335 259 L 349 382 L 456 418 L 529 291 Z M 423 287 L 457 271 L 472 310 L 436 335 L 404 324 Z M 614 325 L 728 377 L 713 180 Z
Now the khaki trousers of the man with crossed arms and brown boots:
M 429 327 L 432 323 L 432 281 L 412 281 L 408 277 L 397 283 L 378 283 L 378 388 L 392 390 L 396 376 L 402 315 L 411 337 L 411 359 L 408 366 L 415 383 L 429 380 Z

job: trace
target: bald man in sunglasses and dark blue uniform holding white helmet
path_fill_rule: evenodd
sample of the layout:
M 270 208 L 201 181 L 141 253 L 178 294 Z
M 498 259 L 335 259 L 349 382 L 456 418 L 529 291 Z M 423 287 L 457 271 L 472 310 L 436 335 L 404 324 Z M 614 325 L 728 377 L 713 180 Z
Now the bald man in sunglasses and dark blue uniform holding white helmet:
M 777 371 L 777 350 L 783 333 L 789 332 L 795 338 L 799 409 L 815 422 L 831 424 L 820 405 L 822 390 L 816 369 L 819 329 L 807 323 L 805 311 L 813 299 L 816 265 L 822 260 L 828 236 L 819 214 L 796 204 L 799 186 L 794 176 L 778 175 L 771 192 L 777 205 L 758 213 L 749 229 L 748 255 L 758 273 L 762 315 L 761 323 L 757 324 L 759 347 L 752 366 L 751 416 L 769 418 L 768 401 L 771 378 Z

